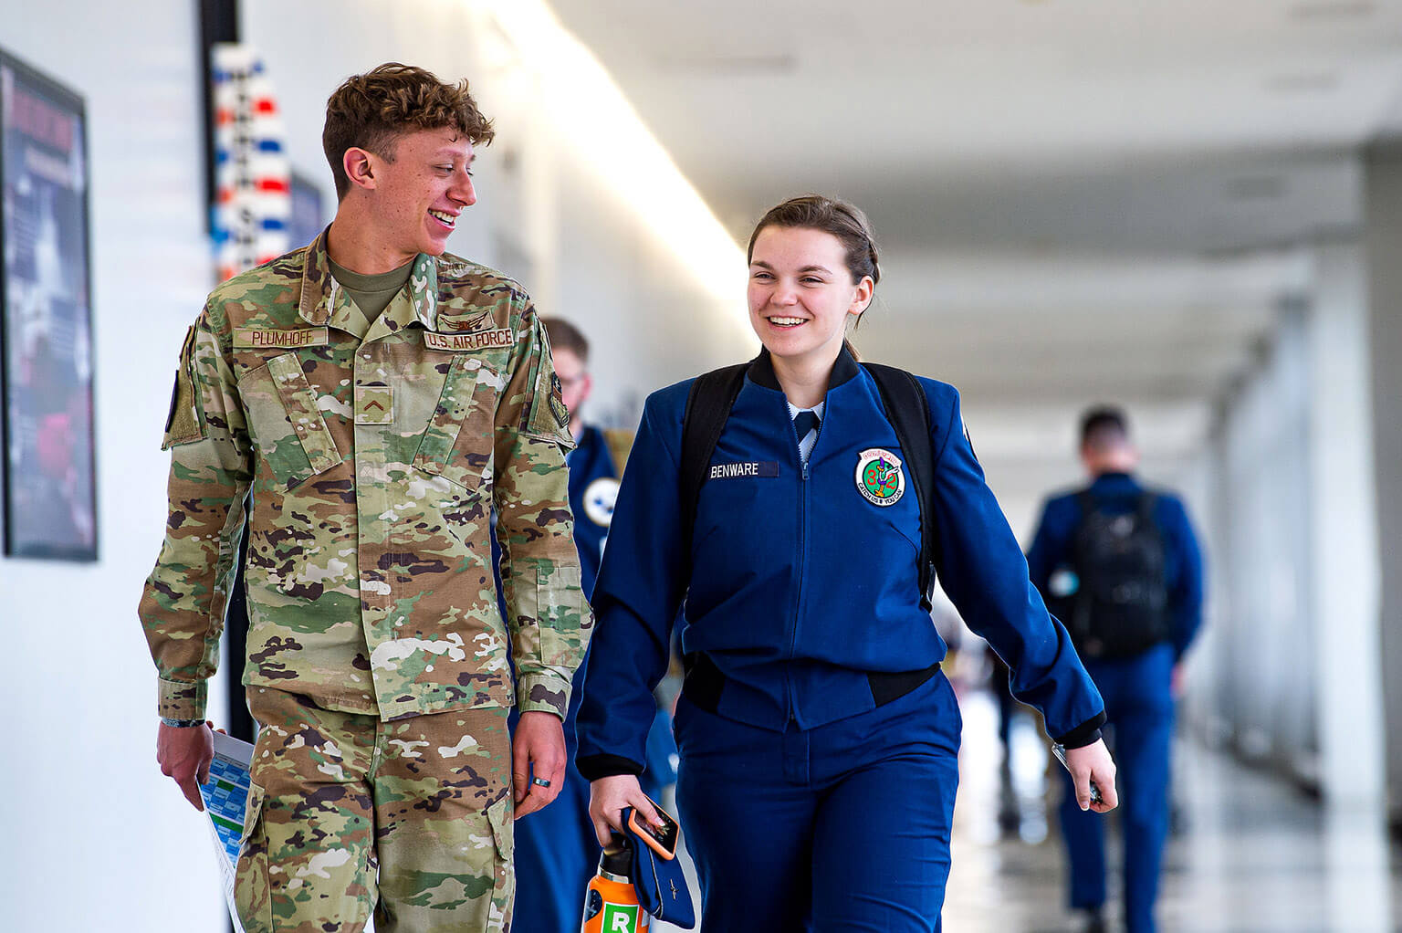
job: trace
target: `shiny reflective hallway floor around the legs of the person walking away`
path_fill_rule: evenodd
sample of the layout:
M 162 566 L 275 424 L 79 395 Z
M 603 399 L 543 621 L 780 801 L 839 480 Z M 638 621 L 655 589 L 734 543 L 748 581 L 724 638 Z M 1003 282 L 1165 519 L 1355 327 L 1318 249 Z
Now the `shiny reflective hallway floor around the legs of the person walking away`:
M 965 741 L 946 933 L 1071 933 L 1056 826 L 1046 818 L 1044 751 L 1030 718 L 1014 732 L 1016 819 L 1000 828 L 997 713 L 960 697 Z M 1162 933 L 1402 930 L 1402 849 L 1377 826 L 1328 818 L 1298 790 L 1196 744 L 1176 749 L 1179 831 L 1165 859 Z M 1053 817 L 1054 818 L 1054 817 Z M 1016 822 L 1014 828 L 1011 822 Z M 1112 864 L 1119 839 L 1112 835 Z M 1112 875 L 1112 898 L 1117 878 Z M 1117 905 L 1109 905 L 1120 930 Z M 658 925 L 660 932 L 676 927 Z

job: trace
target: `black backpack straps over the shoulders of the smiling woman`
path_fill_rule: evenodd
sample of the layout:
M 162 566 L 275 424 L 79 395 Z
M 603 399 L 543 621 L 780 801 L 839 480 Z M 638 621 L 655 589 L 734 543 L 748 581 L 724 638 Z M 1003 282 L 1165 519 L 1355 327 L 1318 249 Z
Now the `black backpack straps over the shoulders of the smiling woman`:
M 753 362 L 753 361 L 751 361 Z M 920 502 L 920 605 L 931 608 L 930 595 L 935 586 L 935 565 L 939 563 L 939 539 L 934 523 L 935 450 L 930 441 L 930 400 L 920 382 L 904 369 L 880 363 L 862 363 L 876 380 L 886 418 L 896 429 L 896 441 L 910 467 L 910 481 Z M 691 553 L 691 533 L 695 528 L 697 499 L 705 483 L 711 455 L 721 439 L 730 408 L 744 384 L 750 363 L 736 363 L 697 376 L 687 394 L 681 415 L 681 540 Z

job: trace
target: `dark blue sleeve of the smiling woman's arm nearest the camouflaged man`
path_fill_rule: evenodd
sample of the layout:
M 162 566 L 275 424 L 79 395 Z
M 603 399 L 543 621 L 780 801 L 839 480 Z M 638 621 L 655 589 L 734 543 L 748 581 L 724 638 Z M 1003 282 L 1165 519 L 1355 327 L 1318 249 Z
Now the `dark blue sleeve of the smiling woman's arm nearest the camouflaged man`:
M 644 407 L 590 600 L 596 622 L 575 759 L 589 780 L 642 773 L 658 709 L 652 690 L 667 671 L 686 592 L 677 453 L 667 445 L 680 438 L 680 418 L 670 424 L 658 394 Z

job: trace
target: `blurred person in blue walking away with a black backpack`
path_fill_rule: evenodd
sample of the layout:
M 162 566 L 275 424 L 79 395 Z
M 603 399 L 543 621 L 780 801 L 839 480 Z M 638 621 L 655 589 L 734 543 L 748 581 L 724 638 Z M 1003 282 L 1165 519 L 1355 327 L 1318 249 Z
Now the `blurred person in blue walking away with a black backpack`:
M 1124 412 L 1082 415 L 1081 462 L 1091 484 L 1047 499 L 1028 570 L 1105 697 L 1120 767 L 1124 918 L 1130 933 L 1151 933 L 1169 821 L 1173 697 L 1202 622 L 1202 556 L 1179 498 L 1134 478 L 1138 452 Z M 1103 828 L 1068 794 L 1061 832 L 1071 906 L 1085 912 L 1088 930 L 1103 930 Z

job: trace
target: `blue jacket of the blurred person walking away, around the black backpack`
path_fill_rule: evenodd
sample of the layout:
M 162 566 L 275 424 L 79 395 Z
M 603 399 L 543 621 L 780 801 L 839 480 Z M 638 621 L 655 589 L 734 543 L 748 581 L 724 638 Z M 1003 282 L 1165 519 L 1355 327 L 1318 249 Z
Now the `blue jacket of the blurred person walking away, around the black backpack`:
M 1103 473 L 1087 488 L 1102 508 L 1124 514 L 1138 508 L 1144 490 L 1127 473 Z M 1203 557 L 1182 501 L 1171 492 L 1152 492 L 1157 497 L 1154 522 L 1164 535 L 1173 657 L 1182 658 L 1203 620 Z M 1054 495 L 1042 508 L 1042 521 L 1028 551 L 1028 571 L 1042 593 L 1049 592 L 1052 574 L 1071 561 L 1073 539 L 1081 523 L 1078 494 L 1080 490 Z

